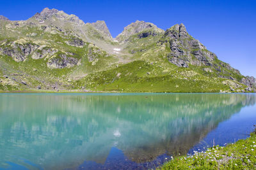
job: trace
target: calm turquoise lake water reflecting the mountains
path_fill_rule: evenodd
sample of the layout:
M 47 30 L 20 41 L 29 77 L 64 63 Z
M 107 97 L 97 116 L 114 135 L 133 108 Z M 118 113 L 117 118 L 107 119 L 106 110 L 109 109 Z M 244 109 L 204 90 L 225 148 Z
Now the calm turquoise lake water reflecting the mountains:
M 255 94 L 0 94 L 0 169 L 148 169 L 247 138 Z

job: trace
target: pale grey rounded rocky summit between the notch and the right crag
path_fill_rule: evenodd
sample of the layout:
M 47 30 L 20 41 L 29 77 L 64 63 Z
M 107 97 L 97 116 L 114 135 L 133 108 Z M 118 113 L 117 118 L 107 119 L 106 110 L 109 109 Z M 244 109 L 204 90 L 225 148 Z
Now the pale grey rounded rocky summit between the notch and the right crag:
M 120 40 L 122 41 L 122 38 L 128 38 L 133 34 L 137 34 L 138 32 L 141 32 L 147 29 L 152 29 L 153 31 L 156 31 L 156 32 L 164 32 L 163 29 L 159 29 L 156 25 L 150 22 L 136 20 L 136 22 L 132 22 L 131 24 L 124 27 L 124 31 L 121 32 L 121 34 L 119 34 L 118 36 L 116 36 L 116 39 L 118 39 L 118 41 Z

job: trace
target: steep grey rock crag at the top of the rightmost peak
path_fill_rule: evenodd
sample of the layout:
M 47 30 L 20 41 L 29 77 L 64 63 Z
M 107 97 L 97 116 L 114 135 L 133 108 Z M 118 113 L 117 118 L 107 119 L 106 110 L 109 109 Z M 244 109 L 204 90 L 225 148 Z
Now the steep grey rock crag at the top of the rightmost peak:
M 212 66 L 216 55 L 209 52 L 197 39 L 189 36 L 184 24 L 177 24 L 164 32 L 159 43 L 167 43 L 171 52 L 168 60 L 181 67 Z

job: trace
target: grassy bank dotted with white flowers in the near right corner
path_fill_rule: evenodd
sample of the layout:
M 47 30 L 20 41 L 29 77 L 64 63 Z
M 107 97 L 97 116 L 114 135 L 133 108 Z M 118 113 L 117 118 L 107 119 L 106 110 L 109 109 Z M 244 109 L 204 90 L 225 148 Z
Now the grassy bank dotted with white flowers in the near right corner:
M 214 146 L 189 157 L 175 157 L 159 169 L 256 169 L 256 131 L 225 147 Z

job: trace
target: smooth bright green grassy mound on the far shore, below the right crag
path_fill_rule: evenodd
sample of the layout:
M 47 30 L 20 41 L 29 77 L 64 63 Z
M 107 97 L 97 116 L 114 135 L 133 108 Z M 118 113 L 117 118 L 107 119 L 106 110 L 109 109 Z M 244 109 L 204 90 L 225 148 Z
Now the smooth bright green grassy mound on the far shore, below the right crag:
M 230 89 L 222 83 L 225 80 L 223 78 L 204 76 L 193 68 L 177 67 L 174 64 L 170 64 L 170 67 L 170 71 L 165 73 L 164 67 L 136 60 L 88 74 L 73 85 L 105 92 L 220 92 L 220 89 Z

